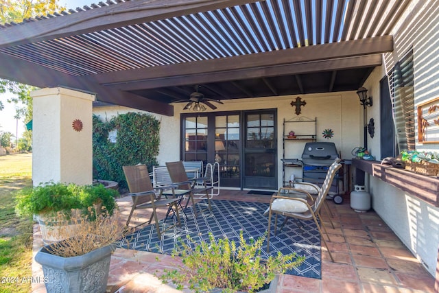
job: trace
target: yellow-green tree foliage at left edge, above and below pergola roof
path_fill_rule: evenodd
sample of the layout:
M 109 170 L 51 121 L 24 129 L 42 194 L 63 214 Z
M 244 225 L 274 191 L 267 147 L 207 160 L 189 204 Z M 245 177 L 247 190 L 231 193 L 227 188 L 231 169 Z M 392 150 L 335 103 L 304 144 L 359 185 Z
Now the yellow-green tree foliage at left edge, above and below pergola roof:
M 1 0 L 0 1 L 0 23 L 21 23 L 24 19 L 34 16 L 53 14 L 66 8 L 58 5 L 58 0 Z M 35 86 L 20 84 L 11 80 L 0 79 L 0 93 L 12 93 L 14 96 L 6 102 L 25 105 L 17 109 L 17 116 L 24 117 L 25 122 L 32 120 L 32 98 L 30 92 L 37 89 Z M 3 110 L 3 102 L 0 101 L 0 110 Z

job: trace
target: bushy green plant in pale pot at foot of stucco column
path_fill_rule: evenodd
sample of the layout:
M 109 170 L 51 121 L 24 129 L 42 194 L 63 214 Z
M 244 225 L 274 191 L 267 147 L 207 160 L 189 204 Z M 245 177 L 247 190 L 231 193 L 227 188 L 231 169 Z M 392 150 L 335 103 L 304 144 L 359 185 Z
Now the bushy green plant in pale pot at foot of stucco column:
M 21 216 L 34 215 L 40 224 L 43 242 L 48 244 L 62 239 L 58 235 L 61 216 L 67 220 L 72 213 L 91 216 L 88 207 L 111 214 L 116 207 L 117 194 L 114 189 L 106 189 L 103 185 L 50 182 L 21 189 L 16 196 L 15 209 Z

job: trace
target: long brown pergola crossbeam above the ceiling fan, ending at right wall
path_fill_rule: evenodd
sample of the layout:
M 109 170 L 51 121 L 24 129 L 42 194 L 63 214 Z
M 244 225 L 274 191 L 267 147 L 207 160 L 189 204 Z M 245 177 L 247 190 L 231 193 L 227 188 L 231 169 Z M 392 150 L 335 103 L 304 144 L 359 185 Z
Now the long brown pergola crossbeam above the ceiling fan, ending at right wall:
M 243 56 L 187 62 L 177 65 L 164 65 L 148 69 L 132 69 L 126 71 L 123 75 L 117 71 L 101 73 L 96 75 L 95 78 L 96 82 L 100 84 L 111 86 L 123 84 L 122 87 L 124 89 L 139 89 L 135 84 L 143 83 L 145 80 L 160 80 L 178 76 L 185 77 L 194 74 L 200 75 L 231 70 L 261 69 L 263 67 L 300 64 L 318 60 L 381 54 L 392 50 L 392 36 L 380 36 L 361 40 L 349 40 L 342 43 L 283 49 Z

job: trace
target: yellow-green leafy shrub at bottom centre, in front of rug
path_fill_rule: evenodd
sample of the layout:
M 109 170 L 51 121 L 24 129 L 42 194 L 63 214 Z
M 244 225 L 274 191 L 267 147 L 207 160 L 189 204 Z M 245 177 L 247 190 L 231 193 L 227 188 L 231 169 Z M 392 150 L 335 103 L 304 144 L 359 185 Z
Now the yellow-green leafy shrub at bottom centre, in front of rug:
M 172 257 L 181 257 L 182 265 L 175 270 L 163 270 L 159 279 L 171 281 L 178 290 L 187 286 L 195 292 L 276 292 L 278 274 L 292 269 L 305 257 L 292 255 L 261 257 L 265 237 L 246 242 L 241 231 L 239 244 L 227 238 L 209 242 L 180 241 Z M 270 284 L 270 285 L 268 285 Z M 265 286 L 269 288 L 264 289 Z M 263 289 L 263 291 L 260 291 Z M 259 291 L 258 291 L 259 290 Z

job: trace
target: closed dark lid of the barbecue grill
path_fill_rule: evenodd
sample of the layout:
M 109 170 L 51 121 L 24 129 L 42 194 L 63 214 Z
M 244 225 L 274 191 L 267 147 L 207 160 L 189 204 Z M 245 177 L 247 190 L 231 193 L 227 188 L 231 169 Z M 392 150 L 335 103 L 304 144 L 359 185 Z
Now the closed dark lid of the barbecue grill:
M 302 161 L 305 165 L 331 165 L 337 157 L 338 152 L 335 143 L 327 142 L 305 143 L 302 153 Z

